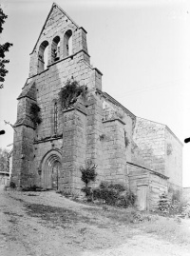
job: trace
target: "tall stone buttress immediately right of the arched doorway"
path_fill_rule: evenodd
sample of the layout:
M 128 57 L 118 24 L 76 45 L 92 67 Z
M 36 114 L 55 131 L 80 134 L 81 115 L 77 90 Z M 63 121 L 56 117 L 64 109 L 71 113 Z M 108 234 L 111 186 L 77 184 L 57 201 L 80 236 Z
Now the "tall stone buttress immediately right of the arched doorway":
M 84 187 L 80 167 L 85 164 L 86 114 L 79 108 L 64 111 L 63 130 L 63 184 L 61 189 L 76 190 Z

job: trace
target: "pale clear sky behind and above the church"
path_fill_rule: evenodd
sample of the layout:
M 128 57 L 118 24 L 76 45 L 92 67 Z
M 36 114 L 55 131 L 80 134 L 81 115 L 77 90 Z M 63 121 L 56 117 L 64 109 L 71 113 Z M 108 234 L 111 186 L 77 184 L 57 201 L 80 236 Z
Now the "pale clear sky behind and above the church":
M 91 64 L 103 90 L 136 116 L 167 125 L 183 143 L 190 137 L 190 5 L 183 0 L 57 0 L 87 31 Z M 1 43 L 9 74 L 0 89 L 0 147 L 13 142 L 16 98 L 28 78 L 29 53 L 51 8 L 50 0 L 2 0 L 8 19 Z M 183 145 L 183 187 L 190 187 L 190 143 Z

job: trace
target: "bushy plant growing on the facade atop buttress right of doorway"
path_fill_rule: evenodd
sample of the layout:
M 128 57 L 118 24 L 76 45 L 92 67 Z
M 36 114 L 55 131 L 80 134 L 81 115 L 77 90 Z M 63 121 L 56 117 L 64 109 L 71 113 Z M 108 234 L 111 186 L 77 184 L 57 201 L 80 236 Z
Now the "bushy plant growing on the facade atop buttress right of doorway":
M 79 86 L 77 81 L 67 80 L 66 86 L 59 92 L 62 108 L 71 107 L 80 95 L 85 98 L 86 92 L 87 88 L 85 86 Z

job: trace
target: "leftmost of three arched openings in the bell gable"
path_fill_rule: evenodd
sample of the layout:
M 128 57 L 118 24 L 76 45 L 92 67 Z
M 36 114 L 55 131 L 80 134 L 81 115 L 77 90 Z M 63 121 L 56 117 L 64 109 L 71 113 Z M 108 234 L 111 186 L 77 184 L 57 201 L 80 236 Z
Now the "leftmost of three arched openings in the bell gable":
M 44 41 L 38 51 L 38 72 L 42 72 L 47 69 L 47 53 L 48 53 L 48 42 Z

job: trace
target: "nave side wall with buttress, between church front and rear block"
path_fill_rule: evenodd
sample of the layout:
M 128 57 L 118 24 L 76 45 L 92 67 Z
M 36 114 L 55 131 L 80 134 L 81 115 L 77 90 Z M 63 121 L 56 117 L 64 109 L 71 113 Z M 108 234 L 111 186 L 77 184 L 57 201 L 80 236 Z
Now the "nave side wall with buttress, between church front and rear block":
M 101 179 L 128 186 L 125 162 L 131 160 L 135 116 L 107 93 L 101 95 L 102 124 L 98 138 L 102 155 Z

